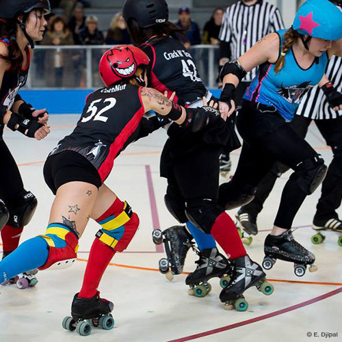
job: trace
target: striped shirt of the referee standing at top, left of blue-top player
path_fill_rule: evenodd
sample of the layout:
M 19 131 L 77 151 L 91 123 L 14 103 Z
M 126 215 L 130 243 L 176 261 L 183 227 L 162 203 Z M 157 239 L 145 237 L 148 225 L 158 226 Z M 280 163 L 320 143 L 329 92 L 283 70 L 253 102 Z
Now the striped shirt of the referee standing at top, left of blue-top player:
M 230 44 L 231 60 L 236 60 L 258 40 L 283 28 L 282 16 L 276 6 L 263 0 L 250 6 L 238 1 L 227 8 L 219 39 Z M 254 69 L 243 81 L 250 82 L 256 76 L 257 69 Z

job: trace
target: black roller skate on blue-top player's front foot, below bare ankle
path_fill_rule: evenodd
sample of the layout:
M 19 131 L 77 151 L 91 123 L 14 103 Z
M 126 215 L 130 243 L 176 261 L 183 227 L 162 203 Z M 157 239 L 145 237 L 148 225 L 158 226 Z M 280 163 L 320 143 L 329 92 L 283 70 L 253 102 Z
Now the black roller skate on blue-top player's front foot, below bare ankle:
M 279 236 L 267 235 L 264 252 L 263 268 L 265 269 L 271 269 L 276 259 L 280 259 L 294 263 L 295 275 L 299 277 L 304 276 L 307 265 L 310 265 L 309 272 L 317 271 L 317 266 L 313 265 L 315 255 L 295 241 L 291 230 Z

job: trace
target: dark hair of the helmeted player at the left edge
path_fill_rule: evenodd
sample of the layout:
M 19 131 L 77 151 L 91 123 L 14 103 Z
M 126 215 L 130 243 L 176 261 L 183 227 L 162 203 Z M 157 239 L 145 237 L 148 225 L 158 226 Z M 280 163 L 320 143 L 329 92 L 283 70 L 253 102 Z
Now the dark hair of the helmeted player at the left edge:
M 24 62 L 24 56 L 16 42 L 16 31 L 18 24 L 16 19 L 5 19 L 0 21 L 0 40 L 8 40 L 8 55 L 0 55 L 0 58 L 10 64 L 10 70 L 16 72 Z

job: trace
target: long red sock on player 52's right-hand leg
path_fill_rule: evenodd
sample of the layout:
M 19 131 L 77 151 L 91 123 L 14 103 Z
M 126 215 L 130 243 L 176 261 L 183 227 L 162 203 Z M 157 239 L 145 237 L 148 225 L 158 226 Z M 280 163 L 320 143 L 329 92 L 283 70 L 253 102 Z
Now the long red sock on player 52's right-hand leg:
M 101 215 L 96 222 L 109 218 L 111 215 L 118 215 L 124 209 L 124 202 L 116 198 L 113 205 Z M 83 285 L 79 291 L 80 298 L 92 298 L 96 295 L 98 285 L 101 282 L 103 273 L 114 257 L 115 250 L 106 244 L 103 244 L 97 237 L 95 238 L 89 254 L 89 260 L 86 273 L 83 278 Z

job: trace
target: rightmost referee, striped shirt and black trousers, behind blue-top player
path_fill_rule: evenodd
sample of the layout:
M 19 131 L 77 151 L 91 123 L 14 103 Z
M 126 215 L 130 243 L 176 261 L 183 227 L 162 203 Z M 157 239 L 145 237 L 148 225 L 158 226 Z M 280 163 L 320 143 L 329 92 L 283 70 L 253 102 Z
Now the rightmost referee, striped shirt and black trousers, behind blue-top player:
M 342 1 L 332 1 L 340 5 Z M 308 127 L 314 120 L 321 135 L 328 146 L 332 148 L 333 159 L 328 167 L 326 179 L 322 183 L 321 197 L 317 204 L 317 211 L 313 218 L 313 229 L 318 231 L 313 235 L 314 244 L 324 241 L 324 235 L 320 231 L 335 231 L 342 233 L 342 221 L 336 210 L 342 200 L 342 78 L 340 74 L 342 66 L 341 57 L 333 56 L 327 66 L 326 76 L 333 83 L 326 83 L 322 88 L 315 86 L 306 94 L 298 107 L 291 127 L 302 137 L 306 136 Z M 272 170 L 259 183 L 254 200 L 241 207 L 237 213 L 237 220 L 248 234 L 257 235 L 257 216 L 263 209 L 263 204 L 272 191 L 276 179 L 289 168 L 276 163 Z M 342 246 L 342 238 L 339 237 Z

